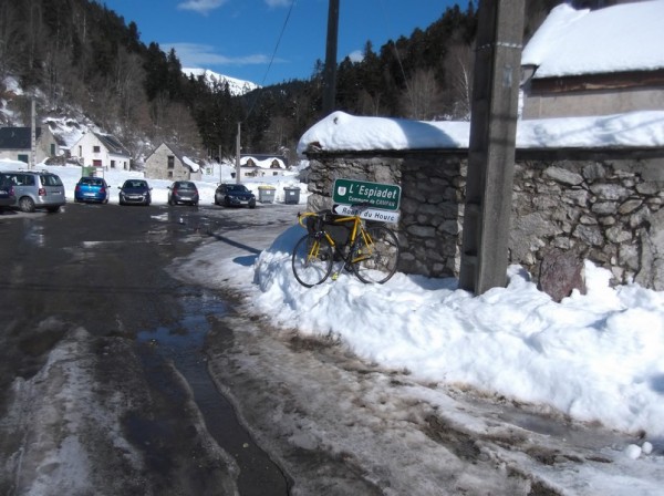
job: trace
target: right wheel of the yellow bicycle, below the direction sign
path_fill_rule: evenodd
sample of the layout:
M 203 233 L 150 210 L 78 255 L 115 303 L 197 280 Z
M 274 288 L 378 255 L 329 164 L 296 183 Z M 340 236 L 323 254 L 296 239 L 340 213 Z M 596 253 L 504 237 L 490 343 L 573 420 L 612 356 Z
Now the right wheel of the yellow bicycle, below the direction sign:
M 382 285 L 394 272 L 398 262 L 398 240 L 385 226 L 374 226 L 360 232 L 353 254 L 353 270 L 362 282 Z

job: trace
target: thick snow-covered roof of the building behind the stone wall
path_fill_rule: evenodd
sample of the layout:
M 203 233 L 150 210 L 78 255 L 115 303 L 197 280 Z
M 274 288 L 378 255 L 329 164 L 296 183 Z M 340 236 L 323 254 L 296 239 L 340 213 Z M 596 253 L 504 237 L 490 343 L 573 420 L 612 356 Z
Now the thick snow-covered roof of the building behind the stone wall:
M 523 48 L 521 63 L 533 78 L 664 69 L 664 1 L 551 10 Z

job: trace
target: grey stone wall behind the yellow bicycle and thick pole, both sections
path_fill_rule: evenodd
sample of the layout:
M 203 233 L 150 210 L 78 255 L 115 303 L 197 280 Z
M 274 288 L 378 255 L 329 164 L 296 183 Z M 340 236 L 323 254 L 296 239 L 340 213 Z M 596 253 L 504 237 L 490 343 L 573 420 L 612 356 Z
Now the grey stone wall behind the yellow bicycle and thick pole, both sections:
M 522 154 L 521 154 L 522 155 Z M 635 155 L 636 156 L 636 155 Z M 402 186 L 400 270 L 458 277 L 466 153 L 310 156 L 309 208 L 332 207 L 334 179 Z M 615 282 L 664 290 L 664 154 L 655 158 L 526 159 L 515 168 L 509 262 L 537 280 L 556 248 L 609 268 Z

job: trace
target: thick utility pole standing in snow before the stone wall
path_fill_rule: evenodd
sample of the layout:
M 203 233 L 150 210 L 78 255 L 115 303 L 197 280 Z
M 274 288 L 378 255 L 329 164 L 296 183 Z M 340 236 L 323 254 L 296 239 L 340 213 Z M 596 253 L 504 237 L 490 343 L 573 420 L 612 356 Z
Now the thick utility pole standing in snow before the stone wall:
M 459 286 L 507 282 L 525 0 L 480 0 Z

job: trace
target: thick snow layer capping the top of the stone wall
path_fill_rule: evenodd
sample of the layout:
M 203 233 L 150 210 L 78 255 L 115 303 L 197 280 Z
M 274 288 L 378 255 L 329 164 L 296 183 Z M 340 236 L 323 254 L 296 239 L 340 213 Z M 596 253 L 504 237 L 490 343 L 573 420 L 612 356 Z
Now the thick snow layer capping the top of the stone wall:
M 334 112 L 302 135 L 298 153 L 467 148 L 469 138 L 469 122 L 357 117 Z M 539 118 L 517 124 L 517 148 L 663 146 L 664 111 Z

